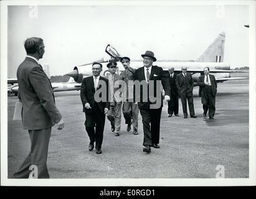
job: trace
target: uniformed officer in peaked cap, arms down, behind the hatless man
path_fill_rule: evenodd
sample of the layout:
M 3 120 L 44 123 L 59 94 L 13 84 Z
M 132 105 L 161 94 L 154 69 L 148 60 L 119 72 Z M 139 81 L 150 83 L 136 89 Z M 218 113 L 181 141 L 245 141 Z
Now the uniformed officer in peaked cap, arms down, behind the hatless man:
M 120 135 L 121 128 L 121 75 L 116 74 L 116 62 L 110 62 L 107 64 L 110 74 L 105 76 L 109 82 L 110 88 L 110 110 L 108 111 L 107 118 L 111 123 L 111 131 L 115 131 L 115 136 Z

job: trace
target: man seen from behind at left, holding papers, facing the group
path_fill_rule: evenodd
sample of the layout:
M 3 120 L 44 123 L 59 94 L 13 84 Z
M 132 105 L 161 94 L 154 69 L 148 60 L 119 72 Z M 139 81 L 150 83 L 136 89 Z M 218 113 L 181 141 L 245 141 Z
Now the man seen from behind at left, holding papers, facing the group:
M 29 131 L 31 151 L 13 177 L 50 178 L 46 164 L 50 132 L 54 124 L 62 129 L 64 121 L 55 106 L 52 85 L 38 62 L 44 55 L 44 41 L 31 37 L 25 41 L 24 47 L 27 56 L 17 69 L 17 81 L 22 102 L 22 123 L 24 129 Z M 32 176 L 31 170 L 35 167 L 37 169 L 33 170 L 37 170 L 37 174 Z

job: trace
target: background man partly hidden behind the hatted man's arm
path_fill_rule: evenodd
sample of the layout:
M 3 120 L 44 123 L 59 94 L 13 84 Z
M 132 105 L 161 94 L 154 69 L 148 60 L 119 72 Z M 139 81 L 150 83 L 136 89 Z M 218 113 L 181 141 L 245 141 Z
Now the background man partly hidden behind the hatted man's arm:
M 173 112 L 175 116 L 179 116 L 179 91 L 176 86 L 176 76 L 174 73 L 174 68 L 169 69 L 169 84 L 171 87 L 171 98 L 172 100 L 168 101 L 168 117 L 173 116 Z

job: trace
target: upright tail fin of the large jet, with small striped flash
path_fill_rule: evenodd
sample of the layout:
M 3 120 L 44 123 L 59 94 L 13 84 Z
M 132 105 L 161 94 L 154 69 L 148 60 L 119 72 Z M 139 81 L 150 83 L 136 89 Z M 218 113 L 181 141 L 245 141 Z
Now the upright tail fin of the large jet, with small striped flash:
M 225 32 L 220 32 L 212 44 L 198 57 L 199 62 L 223 62 Z

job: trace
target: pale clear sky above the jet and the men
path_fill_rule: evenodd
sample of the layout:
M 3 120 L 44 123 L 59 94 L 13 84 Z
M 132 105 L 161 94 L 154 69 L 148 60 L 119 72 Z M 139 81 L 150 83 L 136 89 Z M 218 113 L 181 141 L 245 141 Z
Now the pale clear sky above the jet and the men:
M 7 74 L 16 78 L 28 37 L 44 39 L 50 75 L 108 57 L 115 47 L 122 56 L 141 59 L 151 50 L 158 60 L 196 59 L 225 32 L 224 62 L 231 68 L 249 66 L 249 6 L 230 5 L 104 5 L 9 6 Z

